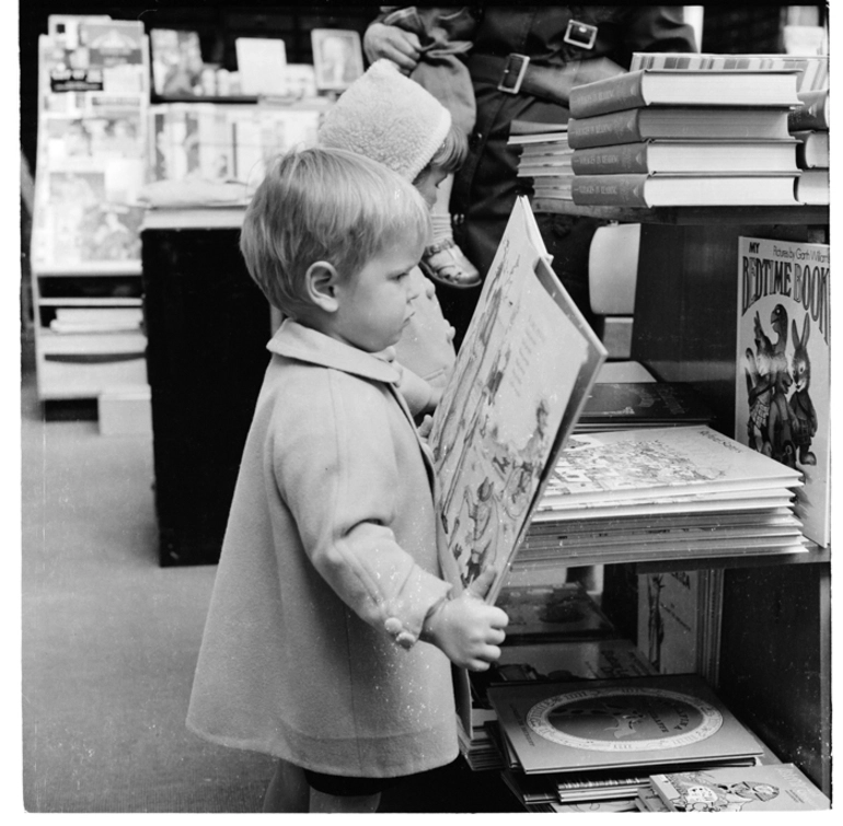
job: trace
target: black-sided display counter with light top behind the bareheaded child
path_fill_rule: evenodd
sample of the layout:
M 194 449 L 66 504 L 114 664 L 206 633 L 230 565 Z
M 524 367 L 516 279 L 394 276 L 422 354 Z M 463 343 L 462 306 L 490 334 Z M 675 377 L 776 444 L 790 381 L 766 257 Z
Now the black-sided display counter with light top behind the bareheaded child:
M 162 566 L 219 559 L 270 312 L 238 246 L 242 209 L 151 210 L 141 230 Z

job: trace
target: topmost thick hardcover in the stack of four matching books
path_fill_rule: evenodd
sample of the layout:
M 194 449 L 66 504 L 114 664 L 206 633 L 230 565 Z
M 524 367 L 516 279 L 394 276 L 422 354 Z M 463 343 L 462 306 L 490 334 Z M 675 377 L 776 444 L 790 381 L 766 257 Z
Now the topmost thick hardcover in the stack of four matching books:
M 795 71 L 639 69 L 574 86 L 571 117 L 640 106 L 795 106 Z

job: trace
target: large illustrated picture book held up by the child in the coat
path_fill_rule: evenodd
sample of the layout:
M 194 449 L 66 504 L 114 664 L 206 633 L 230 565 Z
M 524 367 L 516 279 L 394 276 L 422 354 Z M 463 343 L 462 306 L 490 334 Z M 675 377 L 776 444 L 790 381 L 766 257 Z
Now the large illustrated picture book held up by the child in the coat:
M 604 360 L 518 198 L 429 438 L 446 565 L 494 568 L 489 602 Z

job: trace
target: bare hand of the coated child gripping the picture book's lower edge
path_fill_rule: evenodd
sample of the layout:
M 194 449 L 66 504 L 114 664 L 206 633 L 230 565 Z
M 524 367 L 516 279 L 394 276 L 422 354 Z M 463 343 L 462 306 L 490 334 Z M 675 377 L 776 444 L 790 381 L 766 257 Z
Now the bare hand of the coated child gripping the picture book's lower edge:
M 422 639 L 441 649 L 448 659 L 471 671 L 486 671 L 500 658 L 504 628 L 509 617 L 483 597 L 495 578 L 484 571 L 460 596 L 441 603 L 425 621 Z

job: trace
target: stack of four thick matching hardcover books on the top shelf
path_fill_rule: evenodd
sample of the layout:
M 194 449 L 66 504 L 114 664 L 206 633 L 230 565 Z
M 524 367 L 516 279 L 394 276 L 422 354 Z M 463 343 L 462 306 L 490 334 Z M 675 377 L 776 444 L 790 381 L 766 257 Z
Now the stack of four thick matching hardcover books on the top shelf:
M 586 206 L 792 206 L 798 72 L 638 69 L 576 86 L 571 197 Z

